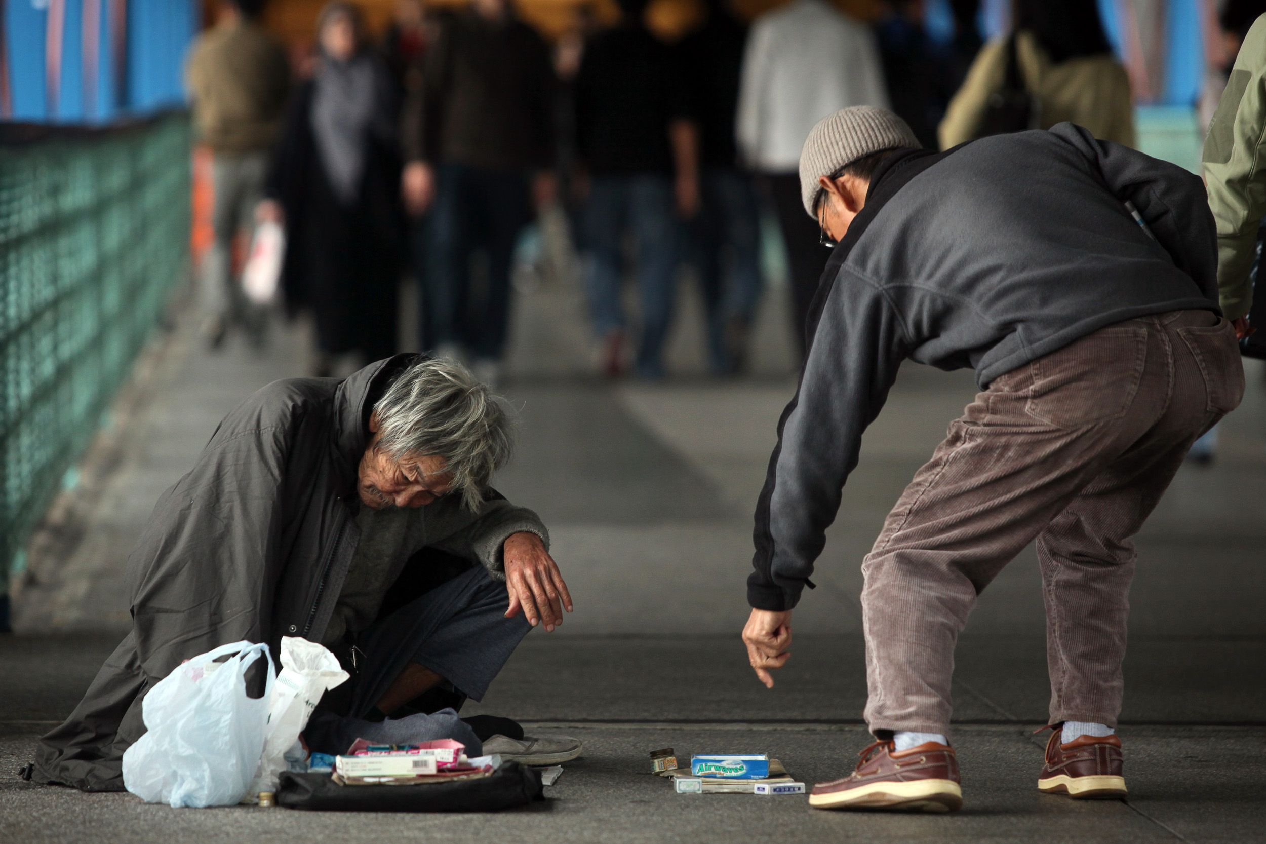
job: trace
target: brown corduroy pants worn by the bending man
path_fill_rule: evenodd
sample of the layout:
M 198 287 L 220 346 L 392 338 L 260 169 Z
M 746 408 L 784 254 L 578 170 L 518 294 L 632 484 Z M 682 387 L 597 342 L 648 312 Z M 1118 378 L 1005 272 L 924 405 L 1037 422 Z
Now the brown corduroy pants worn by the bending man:
M 1101 328 L 977 394 L 862 564 L 870 729 L 950 732 L 967 613 L 1034 539 L 1051 722 L 1115 726 L 1132 537 L 1243 389 L 1231 323 L 1177 310 Z

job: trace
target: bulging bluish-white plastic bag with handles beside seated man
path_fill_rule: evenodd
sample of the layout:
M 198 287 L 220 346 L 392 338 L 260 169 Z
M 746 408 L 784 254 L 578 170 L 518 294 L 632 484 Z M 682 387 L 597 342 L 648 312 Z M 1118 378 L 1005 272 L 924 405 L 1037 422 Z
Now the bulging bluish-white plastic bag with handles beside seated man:
M 234 654 L 223 663 L 218 656 Z M 246 670 L 268 660 L 263 697 L 246 693 Z M 146 732 L 123 754 L 123 784 L 149 803 L 241 802 L 263 753 L 275 669 L 268 646 L 238 641 L 177 665 L 142 703 Z

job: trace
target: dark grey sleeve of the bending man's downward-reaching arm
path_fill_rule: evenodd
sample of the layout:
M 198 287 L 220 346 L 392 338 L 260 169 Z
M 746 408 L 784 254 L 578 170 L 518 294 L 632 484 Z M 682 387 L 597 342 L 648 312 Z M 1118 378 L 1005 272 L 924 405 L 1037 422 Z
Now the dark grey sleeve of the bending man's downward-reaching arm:
M 795 398 L 779 422 L 756 506 L 755 569 L 747 599 L 790 610 L 813 574 L 825 530 L 857 465 L 862 432 L 887 399 L 908 348 L 896 310 L 867 280 L 841 267 L 827 295 Z

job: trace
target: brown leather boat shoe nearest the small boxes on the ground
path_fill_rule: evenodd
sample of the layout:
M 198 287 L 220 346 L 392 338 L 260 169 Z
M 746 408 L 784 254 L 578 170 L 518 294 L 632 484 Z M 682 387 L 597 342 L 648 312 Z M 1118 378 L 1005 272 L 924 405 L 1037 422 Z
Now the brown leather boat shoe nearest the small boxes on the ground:
M 853 773 L 813 787 L 809 805 L 908 812 L 952 812 L 962 806 L 953 748 L 937 741 L 900 753 L 894 748 L 891 741 L 876 741 L 862 750 Z

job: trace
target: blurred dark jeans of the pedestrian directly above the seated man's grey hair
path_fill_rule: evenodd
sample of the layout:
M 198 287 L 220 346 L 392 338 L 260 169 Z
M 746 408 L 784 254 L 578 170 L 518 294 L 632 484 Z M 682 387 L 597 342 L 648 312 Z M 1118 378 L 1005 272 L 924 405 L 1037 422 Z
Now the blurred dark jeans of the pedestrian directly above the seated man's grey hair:
M 519 171 L 461 163 L 436 169 L 422 274 L 422 347 L 458 343 L 476 359 L 501 360 L 510 316 L 510 270 L 519 232 L 530 221 L 528 181 Z M 472 295 L 470 260 L 487 253 L 487 286 Z

